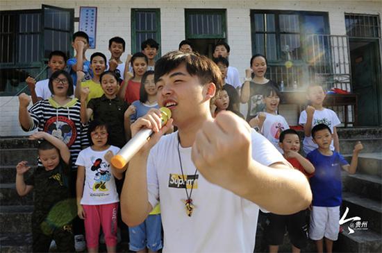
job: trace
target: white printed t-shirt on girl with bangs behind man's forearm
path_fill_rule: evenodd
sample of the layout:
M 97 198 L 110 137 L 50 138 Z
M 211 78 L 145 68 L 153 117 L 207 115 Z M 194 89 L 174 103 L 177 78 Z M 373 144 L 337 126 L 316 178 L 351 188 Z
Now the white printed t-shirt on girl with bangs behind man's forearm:
M 264 112 L 266 115 L 265 121 L 263 123 L 263 128 L 261 132 L 264 137 L 270 141 L 273 146 L 283 154 L 283 150 L 279 147 L 279 138 L 283 130 L 289 129 L 288 122 L 285 121 L 285 118 L 281 115 L 274 115 Z

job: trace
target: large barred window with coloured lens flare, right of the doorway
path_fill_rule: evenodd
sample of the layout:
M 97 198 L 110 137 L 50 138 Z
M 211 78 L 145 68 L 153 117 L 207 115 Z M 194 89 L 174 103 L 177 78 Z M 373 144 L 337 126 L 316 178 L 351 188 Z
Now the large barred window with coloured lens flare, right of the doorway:
M 329 22 L 326 12 L 251 10 L 252 53 L 267 57 L 267 77 L 299 88 L 330 72 Z M 323 68 L 324 67 L 324 68 Z

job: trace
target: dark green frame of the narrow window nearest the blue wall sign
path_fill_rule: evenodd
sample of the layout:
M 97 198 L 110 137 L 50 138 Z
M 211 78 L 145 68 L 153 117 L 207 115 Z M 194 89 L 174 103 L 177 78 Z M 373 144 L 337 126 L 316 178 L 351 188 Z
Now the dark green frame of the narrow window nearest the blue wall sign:
M 156 37 L 153 38 L 153 40 L 156 40 L 160 44 L 161 41 L 161 34 L 160 34 L 160 8 L 131 8 L 131 53 L 138 53 L 141 52 L 142 49 L 140 48 L 140 44 L 137 45 L 137 33 L 140 33 L 141 31 L 136 30 L 136 18 L 135 15 L 137 12 L 154 12 L 156 14 L 156 30 L 147 30 L 146 32 L 156 33 Z M 144 30 L 142 30 L 144 31 Z M 135 51 L 135 49 L 139 49 L 138 51 Z M 160 57 L 160 46 L 157 52 L 156 58 Z

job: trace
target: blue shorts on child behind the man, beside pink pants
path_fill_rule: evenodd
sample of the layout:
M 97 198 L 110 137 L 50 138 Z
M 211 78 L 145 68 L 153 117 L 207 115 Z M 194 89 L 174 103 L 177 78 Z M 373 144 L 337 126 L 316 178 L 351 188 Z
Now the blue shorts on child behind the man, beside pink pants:
M 151 251 L 160 250 L 163 247 L 160 214 L 151 214 L 140 225 L 129 227 L 128 236 L 130 237 L 128 249 L 131 251 L 137 252 L 146 247 Z

